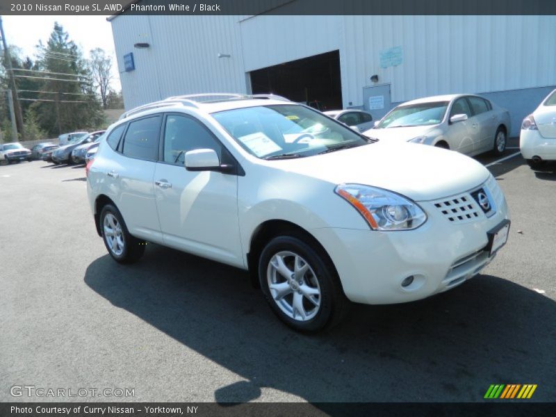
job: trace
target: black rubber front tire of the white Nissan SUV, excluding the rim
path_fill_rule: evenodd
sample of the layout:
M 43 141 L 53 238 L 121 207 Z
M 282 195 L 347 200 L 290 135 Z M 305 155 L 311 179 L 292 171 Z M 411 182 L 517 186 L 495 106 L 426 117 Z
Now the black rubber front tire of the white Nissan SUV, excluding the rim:
M 304 272 L 303 282 L 306 279 L 312 281 L 311 286 L 316 286 L 318 282 L 318 306 L 314 306 L 309 302 L 309 299 L 305 295 L 301 295 L 301 288 L 308 288 L 306 286 L 297 287 L 297 281 L 295 281 L 293 289 L 291 290 L 291 306 L 293 306 L 295 293 L 300 295 L 302 300 L 302 306 L 304 304 L 309 304 L 309 307 L 313 310 L 313 317 L 307 318 L 306 320 L 298 320 L 295 318 L 295 310 L 293 311 L 293 316 L 290 316 L 284 311 L 282 311 L 280 304 L 286 302 L 288 303 L 288 295 L 282 297 L 280 301 L 276 301 L 272 297 L 269 288 L 269 271 L 271 270 L 270 260 L 280 253 L 289 252 L 294 255 L 298 255 L 309 264 L 310 270 Z M 286 258 L 284 258 L 286 259 Z M 270 242 L 265 246 L 259 257 L 259 281 L 261 284 L 261 290 L 265 295 L 270 309 L 278 316 L 278 318 L 286 323 L 289 327 L 300 331 L 300 332 L 317 332 L 318 330 L 326 328 L 331 328 L 341 321 L 347 308 L 350 304 L 349 300 L 343 294 L 340 279 L 336 273 L 336 268 L 330 261 L 327 254 L 324 253 L 320 247 L 315 247 L 315 245 L 310 245 L 307 239 L 301 234 L 299 236 L 292 234 L 290 236 L 278 236 L 270 240 Z M 279 275 L 276 272 L 276 276 L 283 279 L 283 275 Z M 271 275 L 272 276 L 272 275 Z M 284 279 L 285 280 L 285 279 Z M 280 284 L 286 284 L 287 282 L 281 282 Z M 307 285 L 307 284 L 306 284 Z M 295 288 L 299 288 L 298 291 L 294 291 Z M 314 289 L 314 288 L 313 288 Z M 287 291 L 290 291 L 289 289 Z M 282 301 L 283 300 L 283 301 Z M 288 304 L 289 305 L 289 304 Z M 307 313 L 304 307 L 302 308 L 304 313 Z M 311 316 L 311 314 L 306 314 L 306 316 Z

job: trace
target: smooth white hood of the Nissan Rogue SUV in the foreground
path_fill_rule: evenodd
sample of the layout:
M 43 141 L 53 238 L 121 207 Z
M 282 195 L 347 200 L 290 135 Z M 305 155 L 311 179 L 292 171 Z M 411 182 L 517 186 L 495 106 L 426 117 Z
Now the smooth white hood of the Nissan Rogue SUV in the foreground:
M 359 183 L 392 190 L 415 201 L 471 190 L 490 175 L 482 164 L 468 156 L 414 143 L 377 142 L 265 163 L 332 184 Z

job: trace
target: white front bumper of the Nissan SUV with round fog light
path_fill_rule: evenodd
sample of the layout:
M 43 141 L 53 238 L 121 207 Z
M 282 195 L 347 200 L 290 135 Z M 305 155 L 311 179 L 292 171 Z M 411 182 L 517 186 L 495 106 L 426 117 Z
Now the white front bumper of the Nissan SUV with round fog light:
M 410 302 L 455 288 L 494 259 L 496 253 L 490 256 L 486 250 L 487 232 L 508 219 L 501 191 L 495 199 L 496 213 L 490 218 L 481 213 L 457 224 L 431 202 L 420 202 L 428 220 L 415 230 L 310 232 L 332 258 L 347 298 L 364 304 Z M 404 287 L 407 277 L 413 282 Z

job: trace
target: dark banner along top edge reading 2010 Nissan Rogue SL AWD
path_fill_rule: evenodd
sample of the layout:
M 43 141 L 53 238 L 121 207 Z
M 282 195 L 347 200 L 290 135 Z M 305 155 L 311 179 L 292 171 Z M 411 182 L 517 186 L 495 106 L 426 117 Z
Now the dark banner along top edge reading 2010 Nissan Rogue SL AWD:
M 556 15 L 554 0 L 3 0 L 0 15 Z

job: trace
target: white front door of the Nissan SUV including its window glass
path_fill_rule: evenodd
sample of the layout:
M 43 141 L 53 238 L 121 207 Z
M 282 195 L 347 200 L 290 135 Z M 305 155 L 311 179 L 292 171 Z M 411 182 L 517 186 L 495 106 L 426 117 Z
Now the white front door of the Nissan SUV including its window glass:
M 156 164 L 154 174 L 164 244 L 243 267 L 238 177 L 215 171 L 186 170 L 185 154 L 193 149 L 214 149 L 221 163 L 236 163 L 197 118 L 183 113 L 165 115 L 161 161 Z

